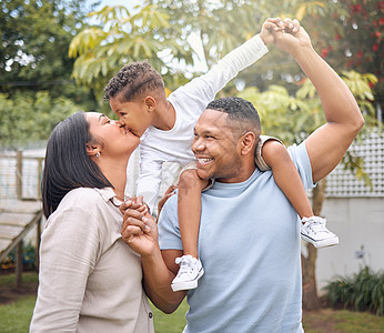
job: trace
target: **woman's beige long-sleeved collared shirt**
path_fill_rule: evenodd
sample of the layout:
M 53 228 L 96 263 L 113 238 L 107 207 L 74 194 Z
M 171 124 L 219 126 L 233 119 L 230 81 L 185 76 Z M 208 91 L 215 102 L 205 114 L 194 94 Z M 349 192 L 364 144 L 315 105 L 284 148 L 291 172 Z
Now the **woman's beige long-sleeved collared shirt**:
M 121 239 L 113 196 L 75 189 L 49 218 L 30 332 L 153 332 L 141 260 Z

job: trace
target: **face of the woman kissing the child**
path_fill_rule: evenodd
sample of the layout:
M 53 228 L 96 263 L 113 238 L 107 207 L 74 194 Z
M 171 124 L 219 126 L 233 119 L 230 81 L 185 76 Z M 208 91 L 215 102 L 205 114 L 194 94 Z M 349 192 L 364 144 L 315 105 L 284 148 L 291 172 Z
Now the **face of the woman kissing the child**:
M 101 154 L 117 157 L 131 154 L 139 145 L 140 139 L 124 129 L 119 121 L 110 120 L 99 112 L 87 112 L 90 133 L 103 142 Z

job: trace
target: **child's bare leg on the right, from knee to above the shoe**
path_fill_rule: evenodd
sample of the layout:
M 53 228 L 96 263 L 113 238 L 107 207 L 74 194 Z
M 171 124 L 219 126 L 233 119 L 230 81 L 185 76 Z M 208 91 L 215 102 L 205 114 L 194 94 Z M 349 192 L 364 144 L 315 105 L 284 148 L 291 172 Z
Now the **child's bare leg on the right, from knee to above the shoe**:
M 272 169 L 276 184 L 290 200 L 300 219 L 312 216 L 312 206 L 303 182 L 285 147 L 276 140 L 267 140 L 261 148 L 261 155 Z

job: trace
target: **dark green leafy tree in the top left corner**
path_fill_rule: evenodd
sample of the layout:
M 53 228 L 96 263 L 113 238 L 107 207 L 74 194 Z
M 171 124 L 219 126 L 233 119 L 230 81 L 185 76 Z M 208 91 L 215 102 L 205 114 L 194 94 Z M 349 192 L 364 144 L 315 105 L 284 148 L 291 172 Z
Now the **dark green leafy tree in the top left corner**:
M 85 0 L 6 0 L 0 4 L 0 92 L 48 90 L 89 100 L 71 79 L 68 47 L 83 26 Z M 92 104 L 92 102 L 91 102 Z M 94 104 L 92 104 L 94 105 Z

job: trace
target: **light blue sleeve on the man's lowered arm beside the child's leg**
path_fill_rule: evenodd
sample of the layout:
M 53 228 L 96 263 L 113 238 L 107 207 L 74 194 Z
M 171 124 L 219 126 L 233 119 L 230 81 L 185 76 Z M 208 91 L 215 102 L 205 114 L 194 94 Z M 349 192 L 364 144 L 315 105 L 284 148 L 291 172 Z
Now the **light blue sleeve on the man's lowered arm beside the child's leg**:
M 183 250 L 178 220 L 178 194 L 172 195 L 160 212 L 159 244 L 161 250 Z

